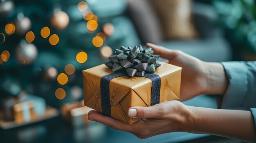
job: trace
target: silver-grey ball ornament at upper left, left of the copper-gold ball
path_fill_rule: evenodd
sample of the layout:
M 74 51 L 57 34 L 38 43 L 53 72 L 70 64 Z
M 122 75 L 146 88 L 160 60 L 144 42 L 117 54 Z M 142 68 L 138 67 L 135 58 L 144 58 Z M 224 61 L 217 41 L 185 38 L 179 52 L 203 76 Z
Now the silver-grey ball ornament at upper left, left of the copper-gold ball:
M 24 16 L 23 13 L 19 13 L 14 25 L 16 26 L 16 33 L 18 35 L 24 35 L 31 28 L 31 21 L 28 17 Z

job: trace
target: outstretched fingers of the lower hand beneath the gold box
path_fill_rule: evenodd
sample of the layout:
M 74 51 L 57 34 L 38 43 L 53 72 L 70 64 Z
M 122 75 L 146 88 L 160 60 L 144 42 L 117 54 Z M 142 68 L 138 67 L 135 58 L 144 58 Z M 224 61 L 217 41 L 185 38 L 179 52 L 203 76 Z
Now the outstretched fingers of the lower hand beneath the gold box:
M 107 125 L 110 128 L 113 128 L 115 130 L 122 130 L 122 131 L 130 132 L 129 124 L 118 121 L 111 117 L 104 116 L 97 111 L 96 112 L 90 111 L 90 112 L 91 112 L 90 114 L 88 113 L 89 120 L 103 123 L 104 125 Z

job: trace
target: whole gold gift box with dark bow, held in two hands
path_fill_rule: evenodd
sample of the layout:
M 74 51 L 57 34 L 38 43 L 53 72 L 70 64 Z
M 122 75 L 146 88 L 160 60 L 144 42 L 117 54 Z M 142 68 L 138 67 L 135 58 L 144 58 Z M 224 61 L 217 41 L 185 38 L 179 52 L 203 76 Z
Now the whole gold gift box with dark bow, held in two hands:
M 158 58 L 150 48 L 122 46 L 105 65 L 83 70 L 85 106 L 131 124 L 141 119 L 129 118 L 128 108 L 178 100 L 182 68 Z

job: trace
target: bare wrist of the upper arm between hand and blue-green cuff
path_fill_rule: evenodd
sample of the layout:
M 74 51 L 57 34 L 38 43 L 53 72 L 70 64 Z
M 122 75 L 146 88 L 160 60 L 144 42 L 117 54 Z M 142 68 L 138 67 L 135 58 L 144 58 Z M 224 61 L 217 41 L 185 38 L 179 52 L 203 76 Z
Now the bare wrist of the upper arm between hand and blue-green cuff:
M 207 79 L 207 89 L 204 94 L 224 95 L 228 86 L 228 79 L 224 67 L 216 62 L 203 62 L 204 75 Z

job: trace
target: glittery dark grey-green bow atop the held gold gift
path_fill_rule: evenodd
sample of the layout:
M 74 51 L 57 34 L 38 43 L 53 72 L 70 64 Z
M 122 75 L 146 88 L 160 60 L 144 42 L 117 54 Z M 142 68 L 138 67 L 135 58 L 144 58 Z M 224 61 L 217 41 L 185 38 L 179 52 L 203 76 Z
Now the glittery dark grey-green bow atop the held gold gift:
M 108 57 L 105 65 L 113 72 L 125 70 L 130 77 L 144 77 L 145 72 L 155 73 L 155 69 L 161 66 L 156 62 L 160 55 L 153 53 L 152 48 L 143 49 L 141 45 L 134 48 L 121 46 L 120 50 L 116 49 L 115 55 Z

